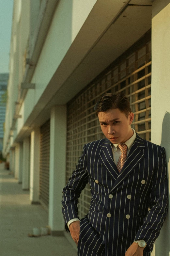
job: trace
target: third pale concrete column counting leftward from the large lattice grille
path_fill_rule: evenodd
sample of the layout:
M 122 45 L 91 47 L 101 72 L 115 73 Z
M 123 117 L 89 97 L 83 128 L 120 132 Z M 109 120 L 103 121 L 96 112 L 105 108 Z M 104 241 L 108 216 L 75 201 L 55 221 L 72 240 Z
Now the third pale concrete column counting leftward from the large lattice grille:
M 29 190 L 30 183 L 30 138 L 23 139 L 23 190 Z

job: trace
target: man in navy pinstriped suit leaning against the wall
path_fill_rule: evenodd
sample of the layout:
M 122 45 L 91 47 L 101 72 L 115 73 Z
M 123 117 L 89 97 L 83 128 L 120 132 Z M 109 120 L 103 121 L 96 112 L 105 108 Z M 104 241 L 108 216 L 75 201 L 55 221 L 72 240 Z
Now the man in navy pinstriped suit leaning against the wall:
M 107 93 L 95 105 L 105 139 L 87 143 L 63 189 L 66 230 L 79 256 L 149 256 L 167 214 L 164 148 L 138 136 L 126 95 Z M 88 214 L 78 198 L 91 186 Z

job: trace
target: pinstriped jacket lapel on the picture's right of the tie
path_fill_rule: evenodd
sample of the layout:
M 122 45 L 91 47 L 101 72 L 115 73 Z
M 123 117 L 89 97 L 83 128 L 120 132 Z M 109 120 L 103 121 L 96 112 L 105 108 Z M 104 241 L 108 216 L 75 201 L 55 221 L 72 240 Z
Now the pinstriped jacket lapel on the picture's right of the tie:
M 128 157 L 110 192 L 112 192 L 124 179 L 126 179 L 136 165 L 138 165 L 139 162 L 144 158 L 144 148 L 145 144 L 143 139 L 136 134 L 136 139 L 131 147 Z

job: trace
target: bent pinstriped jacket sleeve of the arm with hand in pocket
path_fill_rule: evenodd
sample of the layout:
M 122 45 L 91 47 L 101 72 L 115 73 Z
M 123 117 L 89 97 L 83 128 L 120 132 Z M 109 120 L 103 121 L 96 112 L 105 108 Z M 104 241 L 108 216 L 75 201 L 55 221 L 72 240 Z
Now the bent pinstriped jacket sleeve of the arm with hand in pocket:
M 63 205 L 62 213 L 64 216 L 66 231 L 69 231 L 67 222 L 73 218 L 79 218 L 77 208 L 78 198 L 80 197 L 81 191 L 88 183 L 85 147 L 86 144 L 83 147 L 83 152 L 80 156 L 76 169 L 73 171 L 67 185 L 62 190 L 63 200 L 61 203 Z

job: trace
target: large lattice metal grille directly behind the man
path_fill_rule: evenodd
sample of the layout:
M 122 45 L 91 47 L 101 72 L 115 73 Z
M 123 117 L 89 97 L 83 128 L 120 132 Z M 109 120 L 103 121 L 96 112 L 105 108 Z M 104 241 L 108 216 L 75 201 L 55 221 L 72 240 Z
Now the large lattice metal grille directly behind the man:
M 112 68 L 102 78 L 86 88 L 68 104 L 67 181 L 75 169 L 83 145 L 104 138 L 94 105 L 103 93 L 122 91 L 128 95 L 134 121 L 131 125 L 147 140 L 151 136 L 151 42 L 135 51 Z M 87 214 L 90 205 L 90 185 L 79 199 L 79 217 Z

